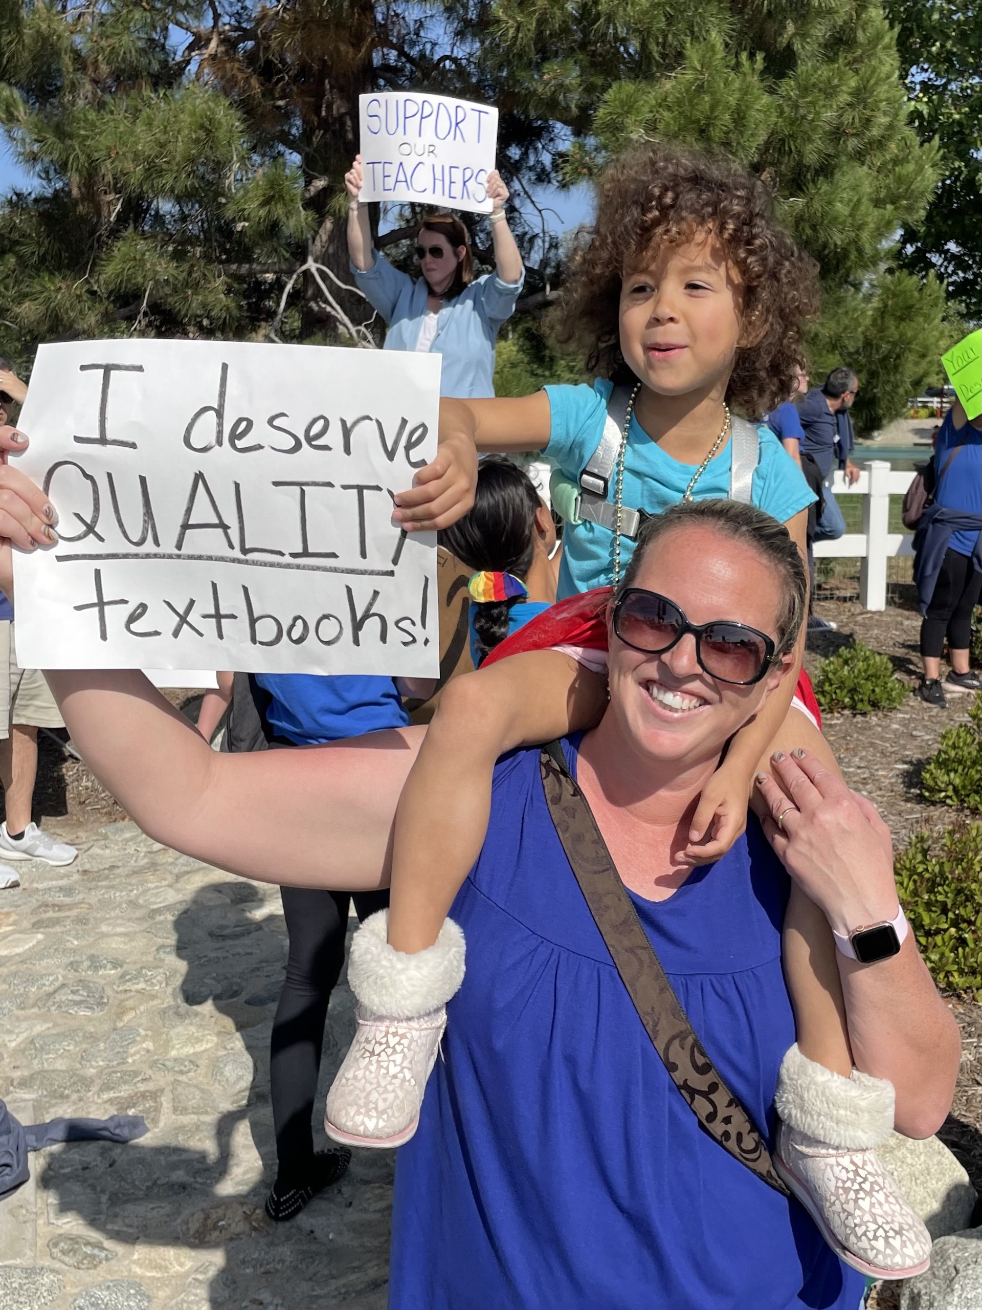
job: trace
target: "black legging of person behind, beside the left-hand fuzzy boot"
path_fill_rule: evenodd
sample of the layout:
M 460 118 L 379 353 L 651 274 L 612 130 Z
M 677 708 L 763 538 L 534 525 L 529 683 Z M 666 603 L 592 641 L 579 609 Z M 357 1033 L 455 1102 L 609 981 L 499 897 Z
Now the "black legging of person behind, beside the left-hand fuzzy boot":
M 321 1070 L 327 1002 L 344 963 L 347 892 L 280 887 L 289 934 L 287 976 L 270 1038 L 270 1094 L 276 1131 L 278 1182 L 302 1186 L 314 1158 L 312 1115 Z M 354 897 L 359 918 L 389 904 L 389 893 Z

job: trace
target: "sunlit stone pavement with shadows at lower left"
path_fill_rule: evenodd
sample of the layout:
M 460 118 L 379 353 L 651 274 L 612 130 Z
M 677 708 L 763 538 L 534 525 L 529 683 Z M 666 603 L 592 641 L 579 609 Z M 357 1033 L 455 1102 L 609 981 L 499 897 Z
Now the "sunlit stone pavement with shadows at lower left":
M 131 823 L 79 846 L 68 869 L 20 863 L 24 886 L 0 893 L 0 1095 L 22 1123 L 139 1114 L 151 1132 L 29 1157 L 30 1183 L 0 1203 L 0 1307 L 382 1310 L 390 1153 L 356 1153 L 288 1224 L 262 1209 L 278 889 Z M 319 1106 L 352 1005 L 339 986 Z

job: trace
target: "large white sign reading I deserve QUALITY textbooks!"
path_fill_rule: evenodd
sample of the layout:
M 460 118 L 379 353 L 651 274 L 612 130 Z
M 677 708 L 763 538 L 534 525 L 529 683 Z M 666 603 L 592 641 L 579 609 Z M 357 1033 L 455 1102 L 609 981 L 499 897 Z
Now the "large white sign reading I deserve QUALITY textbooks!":
M 17 466 L 59 542 L 14 553 L 25 668 L 436 676 L 440 356 L 244 342 L 41 346 Z

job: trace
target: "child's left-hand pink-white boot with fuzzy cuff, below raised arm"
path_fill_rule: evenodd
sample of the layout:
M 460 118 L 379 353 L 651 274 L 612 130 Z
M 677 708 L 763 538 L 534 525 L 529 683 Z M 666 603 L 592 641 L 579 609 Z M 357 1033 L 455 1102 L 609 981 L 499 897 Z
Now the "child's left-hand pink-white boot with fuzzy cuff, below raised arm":
M 327 1136 L 348 1146 L 402 1146 L 415 1133 L 446 1027 L 445 1005 L 464 981 L 464 933 L 453 920 L 415 955 L 393 950 L 388 927 L 384 909 L 351 941 L 357 1028 L 323 1117 Z

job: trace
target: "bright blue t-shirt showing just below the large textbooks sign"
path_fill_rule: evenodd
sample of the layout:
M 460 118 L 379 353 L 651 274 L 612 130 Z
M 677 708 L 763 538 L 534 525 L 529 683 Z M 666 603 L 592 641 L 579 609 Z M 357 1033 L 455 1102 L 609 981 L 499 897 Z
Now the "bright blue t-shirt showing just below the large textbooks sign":
M 340 741 L 409 723 L 390 677 L 257 673 L 255 681 L 272 697 L 266 711 L 270 727 L 297 745 Z

